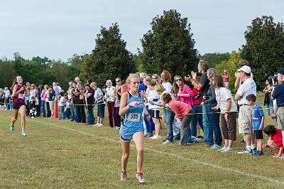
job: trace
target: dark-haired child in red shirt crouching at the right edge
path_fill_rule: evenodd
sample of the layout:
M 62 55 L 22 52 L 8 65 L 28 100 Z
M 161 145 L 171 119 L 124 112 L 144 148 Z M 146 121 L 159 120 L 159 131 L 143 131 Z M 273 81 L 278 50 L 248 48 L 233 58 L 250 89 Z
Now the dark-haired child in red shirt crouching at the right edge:
M 263 145 L 263 148 L 271 148 L 278 153 L 273 153 L 273 158 L 283 158 L 283 139 L 281 131 L 273 125 L 268 125 L 263 129 L 264 133 L 269 136 L 267 144 Z

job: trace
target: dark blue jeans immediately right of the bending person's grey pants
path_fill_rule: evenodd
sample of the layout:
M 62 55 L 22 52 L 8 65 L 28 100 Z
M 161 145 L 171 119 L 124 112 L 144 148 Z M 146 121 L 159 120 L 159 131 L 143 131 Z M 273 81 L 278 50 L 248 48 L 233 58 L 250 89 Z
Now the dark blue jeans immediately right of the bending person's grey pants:
M 195 113 L 202 113 L 202 105 L 196 104 L 192 106 L 192 109 Z M 200 127 L 203 131 L 203 116 L 202 114 L 195 114 L 192 117 L 190 128 L 191 128 L 191 135 L 197 137 L 197 123 L 200 124 Z

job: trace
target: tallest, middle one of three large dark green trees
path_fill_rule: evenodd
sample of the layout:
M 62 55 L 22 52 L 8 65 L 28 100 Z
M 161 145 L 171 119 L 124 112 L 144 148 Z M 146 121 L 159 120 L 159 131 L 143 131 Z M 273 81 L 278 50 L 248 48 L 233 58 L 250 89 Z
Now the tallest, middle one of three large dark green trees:
M 198 59 L 192 36 L 190 23 L 178 11 L 163 11 L 163 16 L 155 16 L 151 30 L 141 39 L 143 69 L 151 73 L 168 70 L 172 75 L 187 75 L 195 70 Z

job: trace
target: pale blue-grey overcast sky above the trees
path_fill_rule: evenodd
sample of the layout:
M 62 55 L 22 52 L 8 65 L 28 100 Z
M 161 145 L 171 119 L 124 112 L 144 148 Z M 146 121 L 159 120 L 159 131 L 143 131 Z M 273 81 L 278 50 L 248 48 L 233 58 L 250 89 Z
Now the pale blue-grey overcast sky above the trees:
M 284 23 L 282 0 L 1 0 L 0 58 L 34 56 L 66 61 L 91 53 L 101 26 L 118 23 L 126 48 L 141 49 L 143 34 L 163 11 L 187 17 L 195 48 L 204 53 L 238 50 L 251 21 L 263 15 Z

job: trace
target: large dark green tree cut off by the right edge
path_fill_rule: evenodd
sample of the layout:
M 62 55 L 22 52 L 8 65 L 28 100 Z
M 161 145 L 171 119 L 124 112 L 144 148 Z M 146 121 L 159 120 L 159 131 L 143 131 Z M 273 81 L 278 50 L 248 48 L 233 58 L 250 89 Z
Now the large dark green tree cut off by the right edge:
M 249 61 L 259 89 L 268 76 L 284 67 L 284 28 L 283 23 L 274 23 L 272 16 L 255 18 L 247 28 L 241 58 Z

